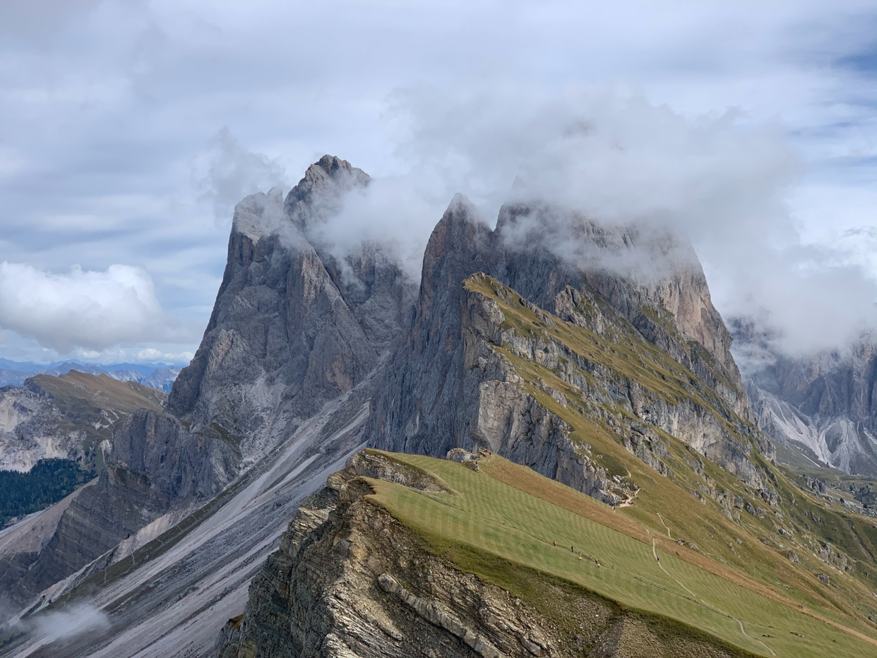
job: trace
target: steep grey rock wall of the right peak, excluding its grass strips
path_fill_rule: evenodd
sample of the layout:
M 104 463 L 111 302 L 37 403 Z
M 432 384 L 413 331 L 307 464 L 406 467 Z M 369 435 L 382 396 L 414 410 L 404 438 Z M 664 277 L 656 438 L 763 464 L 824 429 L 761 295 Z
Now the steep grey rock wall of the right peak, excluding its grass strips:
M 584 446 L 575 447 L 570 442 L 569 428 L 563 420 L 517 386 L 522 377 L 503 360 L 496 346 L 551 370 L 572 363 L 574 369 L 587 373 L 587 376 L 569 373 L 569 381 L 585 391 L 582 396 L 593 403 L 588 414 L 614 424 L 612 430 L 630 444 L 631 452 L 640 454 L 654 468 L 663 467 L 660 455 L 644 452 L 644 446 L 650 445 L 651 440 L 644 443 L 630 423 L 601 411 L 603 402 L 620 404 L 642 423 L 688 442 L 746 483 L 763 486 L 750 453 L 759 447 L 770 456 L 771 446 L 762 435 L 753 432 L 748 422 L 751 418 L 748 400 L 733 359 L 727 353 L 730 336 L 709 303 L 709 291 L 699 266 L 681 268 L 688 274 L 677 272 L 667 280 L 670 283 L 659 282 L 655 288 L 638 287 L 622 276 L 610 277 L 605 271 L 571 267 L 538 243 L 531 249 L 513 251 L 504 247 L 508 240 L 503 232 L 510 231 L 511 221 L 507 217 L 510 211 L 504 212 L 501 224 L 491 232 L 476 218 L 467 201 L 457 197 L 436 226 L 424 254 L 413 329 L 389 361 L 381 396 L 374 404 L 368 427 L 374 445 L 436 456 L 453 447 L 489 447 L 607 502 L 624 500 L 635 486 L 631 485 L 626 494 L 610 493 L 608 473 L 595 466 Z M 593 227 L 592 233 L 597 237 L 592 235 L 589 244 L 599 247 L 607 239 Z M 527 290 L 531 297 L 517 289 L 509 294 L 516 297 L 516 304 L 528 305 L 537 314 L 545 316 L 545 311 L 531 303 L 532 298 L 545 304 L 543 308 L 552 309 L 588 331 L 625 333 L 631 340 L 638 340 L 641 349 L 658 347 L 683 368 L 700 366 L 685 375 L 692 382 L 690 386 L 697 400 L 670 403 L 653 395 L 636 377 L 619 376 L 600 368 L 572 354 L 558 341 L 540 342 L 507 331 L 498 307 L 476 298 L 464 287 L 464 280 L 474 272 L 497 273 L 500 282 L 516 283 Z M 694 292 L 687 290 L 688 280 L 696 283 Z M 569 281 L 581 286 L 581 290 Z M 600 290 L 609 298 L 592 288 L 591 281 L 599 283 Z M 674 292 L 661 302 L 662 290 Z M 582 296 L 588 297 L 588 310 L 580 312 L 577 308 Z M 662 304 L 672 305 L 674 311 L 685 316 L 681 322 L 688 333 L 709 334 L 709 340 L 704 338 L 704 342 L 717 357 L 701 342 L 683 336 L 674 316 Z M 705 318 L 701 324 L 691 319 L 696 314 L 695 307 Z M 650 324 L 646 325 L 643 318 Z M 710 333 L 709 327 L 716 328 L 717 323 L 720 330 Z M 708 375 L 705 380 L 694 376 L 701 371 Z M 588 384 L 588 377 L 596 378 L 597 385 Z M 566 404 L 560 399 L 563 396 L 558 395 L 558 403 Z M 687 395 L 683 391 L 683 397 Z M 704 404 L 707 398 L 709 404 Z M 660 453 L 657 446 L 655 443 Z

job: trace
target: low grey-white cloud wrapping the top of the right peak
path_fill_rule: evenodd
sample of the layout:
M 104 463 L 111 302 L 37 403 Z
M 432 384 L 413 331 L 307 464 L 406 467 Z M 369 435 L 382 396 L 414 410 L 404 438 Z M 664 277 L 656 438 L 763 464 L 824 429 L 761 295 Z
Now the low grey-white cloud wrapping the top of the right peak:
M 690 240 L 725 317 L 761 318 L 788 352 L 842 345 L 873 326 L 877 285 L 852 250 L 802 241 L 786 198 L 803 168 L 778 123 L 728 110 L 686 116 L 612 89 L 396 92 L 408 171 L 348 195 L 324 226 L 338 244 L 382 241 L 412 273 L 454 192 L 485 218 L 545 202 L 604 225 Z

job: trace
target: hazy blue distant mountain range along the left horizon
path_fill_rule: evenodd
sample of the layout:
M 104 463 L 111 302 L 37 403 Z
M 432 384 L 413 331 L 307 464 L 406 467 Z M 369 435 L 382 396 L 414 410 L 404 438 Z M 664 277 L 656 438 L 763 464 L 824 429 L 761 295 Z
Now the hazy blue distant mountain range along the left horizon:
M 34 363 L 33 361 L 11 361 L 0 359 L 0 386 L 22 386 L 25 380 L 34 375 L 66 375 L 70 370 L 89 375 L 110 375 L 120 382 L 137 382 L 153 389 L 170 392 L 178 366 L 168 363 L 78 363 L 76 361 L 56 361 L 54 363 Z

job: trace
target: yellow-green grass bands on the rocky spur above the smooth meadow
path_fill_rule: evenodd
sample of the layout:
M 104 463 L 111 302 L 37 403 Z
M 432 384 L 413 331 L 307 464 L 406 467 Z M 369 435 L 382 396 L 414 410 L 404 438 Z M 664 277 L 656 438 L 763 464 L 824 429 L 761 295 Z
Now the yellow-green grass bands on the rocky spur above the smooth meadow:
M 758 491 L 655 427 L 667 451 L 662 458 L 667 476 L 660 475 L 625 449 L 624 437 L 606 421 L 607 415 L 629 416 L 624 407 L 603 403 L 597 409 L 593 391 L 576 389 L 560 373 L 507 347 L 491 346 L 509 359 L 531 397 L 567 422 L 575 443 L 590 447 L 589 454 L 610 473 L 628 476 L 641 487 L 636 504 L 619 515 L 636 520 L 640 532 L 650 533 L 659 547 L 678 550 L 702 568 L 729 569 L 770 596 L 802 605 L 858 632 L 877 633 L 872 620 L 877 619 L 877 526 L 873 519 L 802 490 L 759 453 L 751 438 L 756 428 L 725 409 L 694 373 L 624 320 L 616 319 L 611 331 L 596 334 L 544 311 L 537 316 L 514 290 L 490 277 L 475 275 L 465 285 L 499 304 L 505 317 L 503 328 L 561 343 L 584 360 L 608 369 L 618 388 L 624 390 L 626 382 L 636 382 L 667 400 L 687 398 L 712 410 L 723 418 L 730 433 L 750 445 L 750 458 L 778 496 L 773 505 L 767 504 Z M 581 311 L 588 313 L 588 309 Z M 588 378 L 587 371 L 582 375 Z M 567 404 L 548 395 L 545 385 L 567 397 Z M 595 390 L 600 386 L 594 383 Z M 758 514 L 729 511 L 719 502 L 735 497 Z

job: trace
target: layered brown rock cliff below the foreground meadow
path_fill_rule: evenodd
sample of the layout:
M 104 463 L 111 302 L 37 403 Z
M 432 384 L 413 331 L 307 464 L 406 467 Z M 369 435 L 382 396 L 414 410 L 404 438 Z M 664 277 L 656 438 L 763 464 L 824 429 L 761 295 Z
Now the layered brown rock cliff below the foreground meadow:
M 250 585 L 244 614 L 217 641 L 219 658 L 381 658 L 424 655 L 532 658 L 588 654 L 731 656 L 681 629 L 656 633 L 648 619 L 584 590 L 549 585 L 549 619 L 531 603 L 424 550 L 371 504 L 357 474 L 429 487 L 378 454 L 357 454 L 296 512 Z

